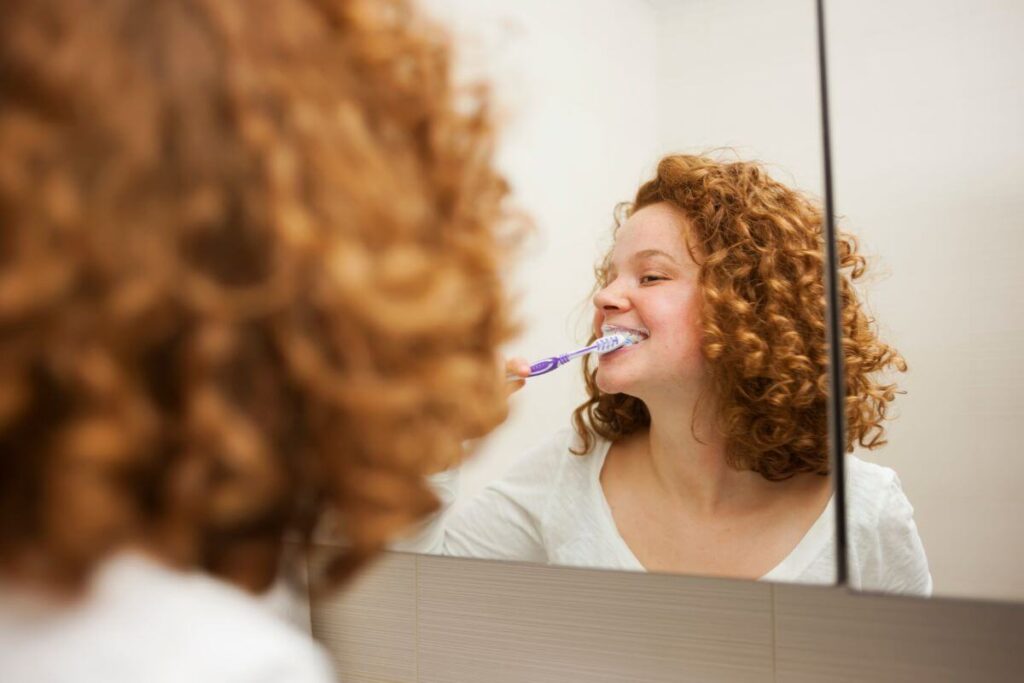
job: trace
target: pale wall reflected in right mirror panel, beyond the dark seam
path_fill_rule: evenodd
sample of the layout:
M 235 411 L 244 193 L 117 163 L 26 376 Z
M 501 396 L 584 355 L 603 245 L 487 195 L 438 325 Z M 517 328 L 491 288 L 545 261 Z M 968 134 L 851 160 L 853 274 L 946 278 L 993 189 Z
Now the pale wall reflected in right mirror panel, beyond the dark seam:
M 1024 600 L 1024 7 L 829 2 L 826 22 L 840 228 L 908 367 L 889 443 L 854 455 L 898 474 L 935 595 Z M 848 497 L 852 542 L 872 512 Z

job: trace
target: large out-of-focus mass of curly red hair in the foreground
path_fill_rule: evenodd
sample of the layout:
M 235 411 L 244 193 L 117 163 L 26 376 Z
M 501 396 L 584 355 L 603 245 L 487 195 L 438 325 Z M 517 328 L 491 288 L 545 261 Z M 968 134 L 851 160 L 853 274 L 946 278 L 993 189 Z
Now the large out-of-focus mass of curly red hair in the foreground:
M 0 572 L 257 590 L 330 517 L 336 585 L 507 411 L 485 89 L 403 0 L 0 11 Z

